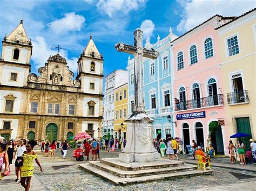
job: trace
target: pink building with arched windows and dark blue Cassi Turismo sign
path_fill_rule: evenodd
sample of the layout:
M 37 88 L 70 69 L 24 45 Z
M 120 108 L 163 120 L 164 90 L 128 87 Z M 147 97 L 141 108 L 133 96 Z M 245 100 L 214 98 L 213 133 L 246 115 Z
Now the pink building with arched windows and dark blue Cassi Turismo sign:
M 228 154 L 230 139 L 223 124 L 224 91 L 218 34 L 214 29 L 229 20 L 231 17 L 213 16 L 171 42 L 173 95 L 179 100 L 175 102 L 175 136 L 183 139 L 184 151 L 194 139 L 205 149 L 211 141 L 215 152 Z

